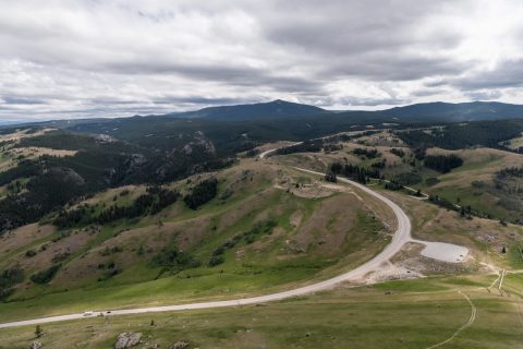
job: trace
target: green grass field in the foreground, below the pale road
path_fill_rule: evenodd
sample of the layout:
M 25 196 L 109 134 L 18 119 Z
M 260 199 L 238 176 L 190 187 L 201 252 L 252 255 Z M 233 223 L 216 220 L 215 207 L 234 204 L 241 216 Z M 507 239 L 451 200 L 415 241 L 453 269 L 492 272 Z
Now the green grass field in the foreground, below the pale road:
M 521 293 L 499 297 L 455 277 L 404 280 L 338 289 L 260 306 L 96 317 L 44 325 L 45 348 L 112 348 L 118 334 L 142 332 L 144 344 L 169 348 L 427 348 L 472 326 L 440 348 L 518 348 L 523 340 Z M 523 285 L 511 276 L 510 287 Z M 151 326 L 151 320 L 155 325 Z M 0 348 L 27 348 L 35 327 L 0 330 Z

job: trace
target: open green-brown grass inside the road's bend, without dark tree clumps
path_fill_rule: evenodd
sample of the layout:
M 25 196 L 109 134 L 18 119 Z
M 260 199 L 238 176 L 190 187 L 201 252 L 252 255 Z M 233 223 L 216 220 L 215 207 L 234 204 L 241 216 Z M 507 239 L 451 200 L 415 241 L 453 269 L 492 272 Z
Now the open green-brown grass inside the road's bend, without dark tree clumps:
M 379 233 L 382 224 L 353 195 L 297 197 L 272 188 L 273 176 L 278 176 L 273 169 L 248 161 L 219 174 L 220 194 L 231 188 L 234 191 L 231 197 L 214 200 L 196 212 L 179 202 L 157 217 L 106 226 L 96 233 L 80 230 L 58 242 L 47 241 L 50 248 L 32 258 L 25 256 L 26 248 L 38 250 L 38 245 L 22 243 L 16 250 L 19 254 L 4 265 L 21 263 L 26 275 L 50 265 L 57 251 L 71 248 L 72 254 L 62 262 L 62 269 L 50 285 L 26 284 L 27 288 L 20 288 L 11 298 L 12 302 L 0 304 L 0 318 L 265 293 L 332 276 L 370 258 L 387 243 L 386 236 Z M 245 177 L 245 170 L 251 174 Z M 183 190 L 186 181 L 175 185 Z M 109 203 L 111 197 L 112 193 L 98 195 L 100 202 Z M 291 224 L 291 216 L 296 213 L 301 218 Z M 161 273 L 161 268 L 148 264 L 161 248 L 173 241 L 205 264 L 227 239 L 269 217 L 278 221 L 272 234 L 227 251 L 226 263 L 217 267 L 204 265 L 180 273 Z M 157 225 L 159 220 L 162 226 Z M 54 232 L 51 238 L 58 234 Z M 123 251 L 101 255 L 106 248 L 115 245 Z M 141 245 L 146 251 L 143 255 L 137 253 Z M 111 261 L 123 272 L 97 281 L 104 274 L 97 265 Z

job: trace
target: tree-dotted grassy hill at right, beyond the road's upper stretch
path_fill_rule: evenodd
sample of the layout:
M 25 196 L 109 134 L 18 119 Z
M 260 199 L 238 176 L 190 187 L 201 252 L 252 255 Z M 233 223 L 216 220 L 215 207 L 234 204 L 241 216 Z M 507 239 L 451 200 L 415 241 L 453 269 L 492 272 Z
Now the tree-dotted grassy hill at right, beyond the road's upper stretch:
M 522 221 L 523 182 L 518 169 L 523 167 L 523 155 L 484 146 L 459 149 L 408 146 L 402 133 L 384 131 L 335 140 L 326 143 L 328 147 L 333 144 L 335 151 L 318 147 L 316 152 L 295 153 L 278 160 L 319 171 L 328 170 L 333 163 L 351 164 L 377 170 L 386 180 L 437 195 L 450 205 L 469 207 L 477 215 L 514 224 Z M 451 156 L 462 163 L 448 169 L 428 163 Z

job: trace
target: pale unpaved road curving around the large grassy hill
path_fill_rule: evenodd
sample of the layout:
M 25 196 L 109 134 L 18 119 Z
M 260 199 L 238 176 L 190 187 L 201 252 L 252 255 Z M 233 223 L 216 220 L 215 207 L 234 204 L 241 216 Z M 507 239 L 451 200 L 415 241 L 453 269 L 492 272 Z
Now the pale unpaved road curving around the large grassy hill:
M 260 158 L 265 157 L 270 153 L 270 151 L 267 151 L 260 155 Z M 295 167 L 296 170 L 307 172 L 311 174 L 316 174 L 316 176 L 325 176 L 325 173 L 317 172 L 317 171 L 312 171 L 303 168 L 297 168 Z M 248 305 L 248 304 L 258 304 L 258 303 L 265 303 L 265 302 L 272 302 L 272 301 L 279 301 L 283 300 L 287 298 L 292 298 L 292 297 L 299 297 L 299 296 L 304 296 L 304 294 L 309 294 L 314 293 L 317 291 L 323 291 L 327 289 L 331 289 L 338 284 L 342 281 L 346 281 L 353 278 L 357 278 L 361 276 L 364 276 L 365 274 L 375 270 L 379 267 L 379 265 L 386 261 L 388 261 L 390 257 L 392 257 L 397 252 L 400 251 L 402 245 L 411 240 L 411 221 L 406 214 L 398 206 L 394 204 L 392 201 L 389 198 L 385 197 L 384 195 L 370 190 L 369 188 L 362 185 L 357 182 L 344 179 L 344 178 L 339 178 L 338 179 L 341 182 L 349 183 L 351 185 L 354 185 L 358 188 L 360 190 L 366 192 L 367 194 L 382 201 L 385 204 L 387 204 L 394 213 L 397 220 L 398 220 L 398 227 L 397 230 L 392 237 L 392 241 L 374 258 L 370 261 L 364 263 L 363 265 L 358 266 L 357 268 L 344 273 L 342 275 L 339 275 L 337 277 L 333 277 L 331 279 L 320 281 L 317 284 L 300 287 L 293 290 L 289 291 L 283 291 L 283 292 L 278 292 L 278 293 L 272 293 L 272 294 L 266 294 L 266 296 L 259 296 L 259 297 L 252 297 L 252 298 L 242 298 L 242 299 L 234 299 L 234 300 L 228 300 L 228 301 L 211 301 L 211 302 L 200 302 L 200 303 L 187 303 L 187 304 L 178 304 L 178 305 L 163 305 L 163 306 L 149 306 L 149 308 L 138 308 L 138 309 L 126 309 L 126 310 L 113 310 L 110 313 L 107 311 L 95 311 L 94 315 L 102 313 L 104 315 L 127 315 L 127 314 L 143 314 L 143 313 L 154 313 L 154 312 L 172 312 L 172 311 L 183 311 L 183 310 L 197 310 L 197 309 L 212 309 L 212 308 L 223 308 L 223 306 L 239 306 L 239 305 Z M 7 328 L 7 327 L 16 327 L 16 326 L 26 326 L 26 325 L 36 325 L 36 324 L 45 324 L 45 323 L 51 323 L 51 322 L 60 322 L 60 321 L 70 321 L 70 320 L 78 320 L 78 318 L 85 318 L 85 317 L 93 317 L 94 315 L 90 316 L 84 316 L 84 314 L 78 313 L 78 314 L 69 314 L 69 315 L 59 315 L 59 316 L 51 316 L 51 317 L 41 317 L 41 318 L 34 318 L 34 320 L 25 320 L 25 321 L 17 321 L 17 322 L 11 322 L 11 323 L 4 323 L 0 324 L 0 328 Z

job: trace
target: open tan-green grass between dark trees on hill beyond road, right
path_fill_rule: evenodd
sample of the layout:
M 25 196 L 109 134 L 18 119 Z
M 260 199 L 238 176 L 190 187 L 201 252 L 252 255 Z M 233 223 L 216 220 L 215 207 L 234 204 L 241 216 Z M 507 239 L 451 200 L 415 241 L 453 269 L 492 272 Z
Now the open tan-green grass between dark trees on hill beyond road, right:
M 305 153 L 294 154 L 285 157 L 275 157 L 281 163 L 288 165 L 303 166 L 324 171 L 331 163 L 345 159 L 351 164 L 369 167 L 373 163 L 387 159 L 387 166 L 381 172 L 389 179 L 404 172 L 415 171 L 422 178 L 422 182 L 412 184 L 415 189 L 439 195 L 452 203 L 472 206 L 473 209 L 489 214 L 494 218 L 513 221 L 521 219 L 521 208 L 523 207 L 523 196 L 521 193 L 507 192 L 496 186 L 495 173 L 502 168 L 523 166 L 523 155 L 503 152 L 492 148 L 471 148 L 461 151 L 445 151 L 440 148 L 430 148 L 427 154 L 455 154 L 463 158 L 464 165 L 453 169 L 449 173 L 439 173 L 424 167 L 419 161 L 411 166 L 408 161 L 411 151 L 403 148 L 406 156 L 402 159 L 390 154 L 392 147 L 400 147 L 402 144 L 390 133 L 377 133 L 365 136 L 354 142 L 344 143 L 340 152 L 332 154 Z M 376 159 L 358 158 L 352 154 L 356 147 L 377 148 L 381 157 Z M 425 180 L 437 178 L 439 182 L 435 185 L 427 185 Z M 481 186 L 473 182 L 481 183 Z M 521 180 L 510 183 L 509 188 L 523 186 Z

